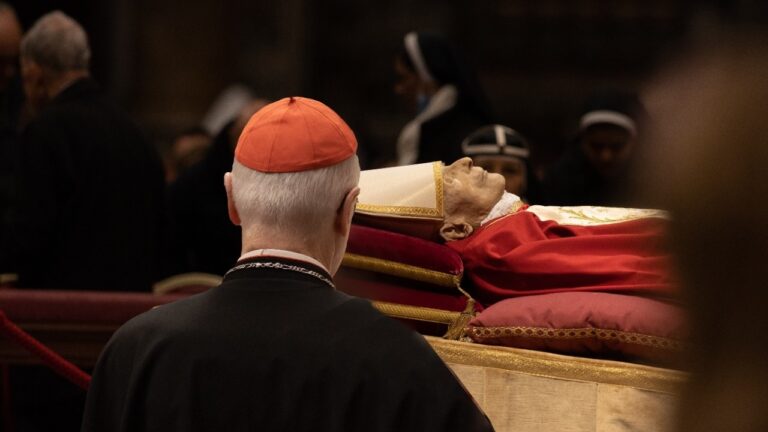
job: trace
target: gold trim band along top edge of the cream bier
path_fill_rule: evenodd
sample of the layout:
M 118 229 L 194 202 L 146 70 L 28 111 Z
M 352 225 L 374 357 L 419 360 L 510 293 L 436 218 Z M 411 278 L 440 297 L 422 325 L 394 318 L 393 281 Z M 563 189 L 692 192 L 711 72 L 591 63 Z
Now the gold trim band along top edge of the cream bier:
M 587 381 L 677 393 L 684 372 L 611 360 L 572 357 L 520 348 L 480 345 L 425 336 L 446 363 L 490 367 L 541 377 Z

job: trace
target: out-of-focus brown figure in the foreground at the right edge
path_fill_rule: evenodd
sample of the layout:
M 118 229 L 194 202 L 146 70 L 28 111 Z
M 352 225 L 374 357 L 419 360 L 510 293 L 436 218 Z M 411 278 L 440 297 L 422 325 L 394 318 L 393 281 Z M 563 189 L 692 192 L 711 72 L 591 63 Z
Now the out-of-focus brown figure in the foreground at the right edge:
M 702 30 L 694 53 L 644 98 L 647 191 L 673 212 L 694 332 L 678 430 L 765 431 L 768 34 Z

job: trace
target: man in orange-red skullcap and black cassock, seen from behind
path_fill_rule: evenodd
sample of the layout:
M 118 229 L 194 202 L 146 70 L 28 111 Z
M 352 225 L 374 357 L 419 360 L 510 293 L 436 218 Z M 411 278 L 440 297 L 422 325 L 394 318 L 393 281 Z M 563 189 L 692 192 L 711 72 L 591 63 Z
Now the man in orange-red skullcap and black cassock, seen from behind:
M 491 431 L 426 341 L 335 290 L 360 188 L 357 140 L 286 98 L 224 177 L 242 256 L 221 286 L 120 328 L 83 431 Z

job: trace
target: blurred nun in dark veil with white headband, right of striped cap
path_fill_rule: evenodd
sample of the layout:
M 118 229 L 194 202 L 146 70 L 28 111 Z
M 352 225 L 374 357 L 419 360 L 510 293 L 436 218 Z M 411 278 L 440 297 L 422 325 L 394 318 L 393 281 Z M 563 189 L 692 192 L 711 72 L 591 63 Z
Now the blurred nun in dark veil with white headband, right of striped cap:
M 634 93 L 594 93 L 578 136 L 544 177 L 543 203 L 633 207 L 628 183 L 642 110 Z

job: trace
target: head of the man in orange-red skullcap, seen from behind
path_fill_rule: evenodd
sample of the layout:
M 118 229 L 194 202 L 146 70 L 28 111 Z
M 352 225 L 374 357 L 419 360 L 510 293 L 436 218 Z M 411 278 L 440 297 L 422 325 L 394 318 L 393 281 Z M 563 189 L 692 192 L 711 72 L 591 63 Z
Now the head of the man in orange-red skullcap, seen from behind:
M 256 112 L 224 178 L 243 252 L 300 252 L 334 273 L 360 191 L 356 149 L 349 126 L 320 102 L 286 98 Z

